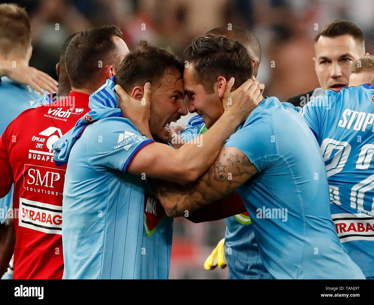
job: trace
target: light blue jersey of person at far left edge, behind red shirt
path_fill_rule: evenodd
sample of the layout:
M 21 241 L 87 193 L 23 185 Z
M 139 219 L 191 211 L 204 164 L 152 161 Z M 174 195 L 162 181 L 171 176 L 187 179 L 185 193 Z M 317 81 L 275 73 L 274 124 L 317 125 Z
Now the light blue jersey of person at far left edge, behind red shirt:
M 21 112 L 36 107 L 35 102 L 42 95 L 25 84 L 16 83 L 6 76 L 0 81 L 0 134 Z M 25 122 L 27 124 L 27 122 Z M 13 185 L 10 192 L 0 198 L 0 222 L 3 222 L 7 210 L 13 203 Z

